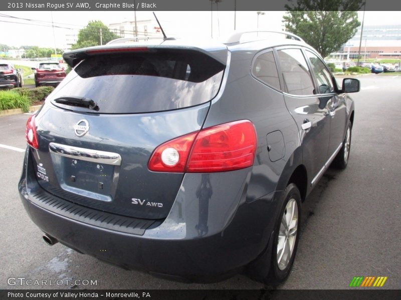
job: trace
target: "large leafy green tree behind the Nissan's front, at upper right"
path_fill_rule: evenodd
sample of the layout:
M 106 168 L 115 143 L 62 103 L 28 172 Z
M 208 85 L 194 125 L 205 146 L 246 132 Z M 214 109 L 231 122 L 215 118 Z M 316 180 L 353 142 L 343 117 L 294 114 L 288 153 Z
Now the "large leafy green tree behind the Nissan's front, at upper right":
M 360 25 L 356 10 L 360 0 L 298 0 L 286 5 L 286 30 L 302 37 L 324 58 L 338 51 L 352 38 Z

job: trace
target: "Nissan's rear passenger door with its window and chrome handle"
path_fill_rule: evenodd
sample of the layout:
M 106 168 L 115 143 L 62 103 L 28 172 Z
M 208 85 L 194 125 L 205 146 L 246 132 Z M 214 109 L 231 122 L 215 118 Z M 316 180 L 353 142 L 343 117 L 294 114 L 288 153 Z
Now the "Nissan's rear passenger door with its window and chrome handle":
M 303 161 L 309 183 L 315 183 L 327 160 L 330 137 L 328 109 L 316 95 L 309 65 L 300 47 L 276 49 L 284 87 L 284 99 L 298 125 Z

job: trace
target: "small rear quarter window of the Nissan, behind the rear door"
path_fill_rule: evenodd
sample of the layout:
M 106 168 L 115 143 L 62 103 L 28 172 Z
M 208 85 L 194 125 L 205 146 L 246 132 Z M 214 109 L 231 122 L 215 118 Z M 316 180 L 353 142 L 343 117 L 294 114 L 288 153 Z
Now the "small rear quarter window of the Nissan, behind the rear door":
M 276 61 L 274 60 L 273 51 L 260 54 L 254 62 L 252 74 L 265 82 L 280 90 L 279 74 L 277 72 Z

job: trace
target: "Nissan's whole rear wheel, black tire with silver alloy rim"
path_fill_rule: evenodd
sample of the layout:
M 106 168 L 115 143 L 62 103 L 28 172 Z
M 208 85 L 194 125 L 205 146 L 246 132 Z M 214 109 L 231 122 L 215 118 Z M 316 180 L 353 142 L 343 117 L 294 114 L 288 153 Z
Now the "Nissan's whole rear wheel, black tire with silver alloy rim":
M 252 269 L 248 270 L 252 279 L 271 286 L 277 286 L 287 279 L 297 252 L 301 225 L 301 193 L 294 183 L 288 184 L 283 191 L 280 203 L 283 204 L 271 235 L 272 241 L 269 241 L 269 250 L 252 262 Z M 294 212 L 289 210 L 291 207 Z

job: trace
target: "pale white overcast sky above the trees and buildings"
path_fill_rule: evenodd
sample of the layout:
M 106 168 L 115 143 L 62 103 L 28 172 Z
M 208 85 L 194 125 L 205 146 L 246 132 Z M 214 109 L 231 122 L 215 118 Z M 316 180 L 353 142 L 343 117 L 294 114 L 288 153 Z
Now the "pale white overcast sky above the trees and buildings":
M 259 28 L 281 30 L 283 11 L 264 11 L 259 15 Z M 13 17 L 5 17 L 2 15 Z M 211 37 L 211 11 L 157 11 L 156 15 L 168 36 Z M 366 11 L 365 25 L 401 24 L 400 11 Z M 246 30 L 257 27 L 256 11 L 237 11 L 236 29 Z M 52 30 L 52 17 L 55 25 L 69 28 L 82 28 L 90 20 L 101 20 L 104 24 L 133 21 L 133 11 L 0 11 L 0 43 L 19 47 L 38 45 L 40 47 L 63 48 L 65 34 L 69 29 L 55 27 Z M 153 19 L 152 12 L 137 11 L 137 20 Z M 362 21 L 362 12 L 358 12 Z M 27 18 L 34 21 L 24 21 Z M 28 22 L 18 24 L 15 22 Z M 46 24 L 40 26 L 38 24 Z M 9 28 L 10 30 L 5 30 Z M 234 30 L 234 11 L 213 11 L 213 35 L 225 36 Z

